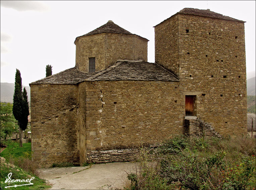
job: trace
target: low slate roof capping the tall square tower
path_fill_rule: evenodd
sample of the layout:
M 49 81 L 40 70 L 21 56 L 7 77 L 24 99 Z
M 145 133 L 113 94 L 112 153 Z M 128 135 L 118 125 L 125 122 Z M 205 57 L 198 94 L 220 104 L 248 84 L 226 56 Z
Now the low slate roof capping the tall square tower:
M 206 16 L 206 17 L 212 17 L 212 18 L 220 18 L 220 19 L 225 19 L 225 20 L 234 20 L 234 21 L 245 22 L 243 20 L 238 20 L 238 19 L 235 19 L 235 18 L 232 18 L 232 17 L 229 17 L 229 16 L 224 16 L 222 14 L 210 11 L 210 9 L 204 10 L 204 9 L 184 8 L 184 9 L 180 10 L 177 13 L 192 14 L 192 15 L 198 15 L 198 16 Z M 176 15 L 176 14 L 174 14 L 174 15 Z M 172 15 L 172 16 L 174 16 L 174 15 Z M 169 17 L 169 18 L 171 18 L 171 17 Z M 167 18 L 167 19 L 169 19 L 169 18 Z M 167 20 L 167 19 L 165 19 L 165 20 Z M 160 23 L 162 23 L 162 22 L 160 22 Z M 157 25 L 155 25 L 155 26 L 157 26 Z

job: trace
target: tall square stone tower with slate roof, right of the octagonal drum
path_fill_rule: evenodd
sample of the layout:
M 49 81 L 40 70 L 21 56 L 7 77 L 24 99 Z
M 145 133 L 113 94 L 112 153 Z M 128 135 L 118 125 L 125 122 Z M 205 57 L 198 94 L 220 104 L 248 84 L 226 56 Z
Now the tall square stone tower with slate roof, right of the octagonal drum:
M 241 134 L 247 112 L 244 21 L 184 8 L 154 27 L 156 63 L 180 78 L 184 114 L 222 134 Z

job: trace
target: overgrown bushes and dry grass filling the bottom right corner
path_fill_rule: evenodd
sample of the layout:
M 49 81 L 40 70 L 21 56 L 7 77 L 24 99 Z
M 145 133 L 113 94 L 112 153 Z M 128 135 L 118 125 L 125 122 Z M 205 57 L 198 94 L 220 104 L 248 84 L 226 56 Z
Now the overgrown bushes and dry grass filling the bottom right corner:
M 253 189 L 255 139 L 176 136 L 141 149 L 132 189 Z

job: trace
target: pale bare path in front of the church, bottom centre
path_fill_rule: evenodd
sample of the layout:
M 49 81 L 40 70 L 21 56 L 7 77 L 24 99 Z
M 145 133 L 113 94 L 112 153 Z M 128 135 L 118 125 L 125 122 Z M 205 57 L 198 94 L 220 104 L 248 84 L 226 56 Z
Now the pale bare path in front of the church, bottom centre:
M 51 189 L 123 189 L 129 183 L 126 172 L 134 171 L 131 162 L 39 169 L 41 178 L 53 184 Z

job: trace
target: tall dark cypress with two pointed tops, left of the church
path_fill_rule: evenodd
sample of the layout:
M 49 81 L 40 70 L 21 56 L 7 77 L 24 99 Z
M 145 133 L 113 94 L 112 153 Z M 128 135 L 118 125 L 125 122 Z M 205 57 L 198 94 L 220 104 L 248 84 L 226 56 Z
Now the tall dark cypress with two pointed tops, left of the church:
M 12 113 L 14 118 L 18 121 L 19 147 L 22 147 L 22 131 L 25 130 L 28 125 L 29 104 L 27 90 L 24 88 L 22 92 L 21 76 L 18 69 L 16 69 L 15 74 Z

